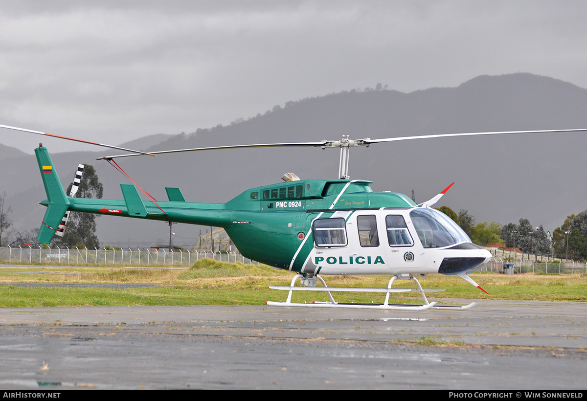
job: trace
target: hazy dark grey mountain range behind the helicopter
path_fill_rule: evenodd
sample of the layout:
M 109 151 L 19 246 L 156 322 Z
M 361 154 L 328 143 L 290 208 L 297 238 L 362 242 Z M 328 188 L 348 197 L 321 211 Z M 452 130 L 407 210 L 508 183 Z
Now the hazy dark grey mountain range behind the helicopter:
M 411 93 L 394 90 L 333 93 L 288 102 L 271 112 L 227 127 L 192 134 L 137 140 L 149 150 L 242 143 L 384 138 L 435 133 L 587 128 L 587 89 L 550 77 L 517 73 L 478 76 L 458 87 Z M 154 140 L 152 140 L 154 139 Z M 143 145 L 141 145 L 144 144 Z M 566 215 L 587 209 L 583 151 L 585 133 L 456 137 L 376 144 L 350 151 L 352 178 L 372 180 L 376 191 L 391 190 L 428 200 L 456 181 L 442 200 L 467 209 L 480 221 L 517 223 L 521 217 L 554 230 Z M 127 144 L 128 145 L 128 144 Z M 130 146 L 130 145 L 128 145 Z M 93 149 L 92 149 L 93 150 Z M 118 183 L 129 182 L 105 161 L 116 151 L 57 153 L 49 149 L 67 186 L 78 163 L 93 164 L 105 198 L 122 198 Z M 278 182 L 292 171 L 301 178 L 336 178 L 335 149 L 215 150 L 173 156 L 120 159 L 141 187 L 166 199 L 164 187 L 180 187 L 188 201 L 224 202 L 250 187 Z M 37 227 L 45 198 L 34 157 L 0 158 L 0 191 L 9 193 L 19 230 Z M 26 177 L 26 179 L 23 179 Z M 438 204 L 437 206 L 440 206 Z M 18 210 L 18 211 L 17 211 Z M 168 241 L 164 223 L 113 217 L 97 220 L 104 244 Z M 15 224 L 16 225 L 16 224 Z M 191 243 L 201 227 L 178 224 L 176 243 Z M 205 230 L 205 228 L 203 228 Z

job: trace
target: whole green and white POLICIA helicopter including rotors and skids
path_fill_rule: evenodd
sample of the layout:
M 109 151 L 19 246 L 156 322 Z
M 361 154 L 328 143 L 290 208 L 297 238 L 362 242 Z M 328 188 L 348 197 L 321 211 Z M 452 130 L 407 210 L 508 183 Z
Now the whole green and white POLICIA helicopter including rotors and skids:
M 47 199 L 41 201 L 41 204 L 47 210 L 36 239 L 39 243 L 48 244 L 54 235 L 63 235 L 70 211 L 161 220 L 170 224 L 222 227 L 245 257 L 298 273 L 289 286 L 271 287 L 289 291 L 286 301 L 267 302 L 268 305 L 406 310 L 468 309 L 476 305 L 476 302 L 472 302 L 464 306 L 440 306 L 437 302 L 429 302 L 425 292 L 444 290 L 423 289 L 417 277 L 428 274 L 458 275 L 486 292 L 467 274 L 487 264 L 492 255 L 473 244 L 447 215 L 431 208 L 450 186 L 422 204 L 415 204 L 400 193 L 373 192 L 369 186 L 372 181 L 350 180 L 348 176 L 349 151 L 352 147 L 439 137 L 587 131 L 478 132 L 360 140 L 343 136 L 340 140 L 332 141 L 142 152 L 18 127 L 0 127 L 130 152 L 97 159 L 107 160 L 118 169 L 120 167 L 114 159 L 131 156 L 248 147 L 339 148 L 340 163 L 336 180 L 300 180 L 295 174 L 287 173 L 282 177 L 284 183 L 251 188 L 226 203 L 193 203 L 185 201 L 180 188 L 166 188 L 167 201 L 157 201 L 150 196 L 151 200 L 143 201 L 135 184 L 120 184 L 122 200 L 75 198 L 75 189 L 82 174 L 79 169 L 68 196 L 53 168 L 48 150 L 39 144 L 35 154 L 47 194 Z M 391 275 L 392 278 L 387 288 L 342 288 L 327 287 L 321 277 L 348 274 L 383 274 Z M 295 287 L 297 279 L 301 279 L 302 286 Z M 392 288 L 397 279 L 414 281 L 417 288 Z M 326 291 L 330 302 L 294 303 L 291 302 L 293 291 Z M 335 291 L 383 292 L 386 298 L 380 305 L 339 304 L 331 294 Z M 424 304 L 389 304 L 391 292 L 419 292 Z

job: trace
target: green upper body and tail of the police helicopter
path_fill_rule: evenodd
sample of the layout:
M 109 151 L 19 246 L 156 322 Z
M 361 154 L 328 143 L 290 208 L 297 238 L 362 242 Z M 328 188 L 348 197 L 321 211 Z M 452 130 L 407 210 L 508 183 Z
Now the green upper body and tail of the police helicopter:
M 373 192 L 371 181 L 363 180 L 278 183 L 252 188 L 227 203 L 187 202 L 178 188 L 166 188 L 167 201 L 143 201 L 136 187 L 128 184 L 121 184 L 122 200 L 70 198 L 65 196 L 56 171 L 49 169 L 52 161 L 48 151 L 39 147 L 36 154 L 48 194 L 48 199 L 41 202 L 48 211 L 39 242 L 52 240 L 66 210 L 107 214 L 223 227 L 245 257 L 273 267 L 299 270 L 301 262 L 290 267 L 292 258 L 296 252 L 308 254 L 313 247 L 312 241 L 302 245 L 302 238 L 311 235 L 312 220 L 319 213 L 414 206 L 403 194 Z

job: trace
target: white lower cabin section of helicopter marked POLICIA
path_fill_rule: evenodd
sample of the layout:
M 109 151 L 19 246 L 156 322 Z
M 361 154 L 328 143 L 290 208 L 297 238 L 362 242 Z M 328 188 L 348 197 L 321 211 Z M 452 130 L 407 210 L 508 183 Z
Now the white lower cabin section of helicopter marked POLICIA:
M 337 211 L 312 222 L 311 274 L 457 274 L 491 254 L 452 220 L 430 208 Z M 446 260 L 446 262 L 443 261 Z M 442 268 L 441 268 L 442 267 Z

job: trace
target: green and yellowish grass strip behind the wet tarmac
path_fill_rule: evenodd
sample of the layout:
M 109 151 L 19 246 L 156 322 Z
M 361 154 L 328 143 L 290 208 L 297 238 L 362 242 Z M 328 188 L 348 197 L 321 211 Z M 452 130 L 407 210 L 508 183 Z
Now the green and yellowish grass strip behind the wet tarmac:
M 80 305 L 262 305 L 285 301 L 287 292 L 269 285 L 288 285 L 294 273 L 264 265 L 245 265 L 202 259 L 189 269 L 123 269 L 79 267 L 4 267 L 0 282 L 143 283 L 149 288 L 17 287 L 0 285 L 0 306 Z M 587 275 L 502 275 L 478 272 L 471 277 L 490 295 L 456 276 L 431 275 L 420 279 L 424 288 L 446 288 L 430 294 L 441 298 L 587 301 Z M 329 287 L 387 287 L 389 276 L 325 277 Z M 415 287 L 396 281 L 394 287 Z M 333 294 L 338 302 L 383 302 L 384 294 Z M 390 296 L 390 303 L 420 303 L 419 294 Z M 292 302 L 328 301 L 323 292 L 294 292 Z

